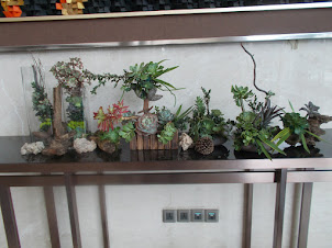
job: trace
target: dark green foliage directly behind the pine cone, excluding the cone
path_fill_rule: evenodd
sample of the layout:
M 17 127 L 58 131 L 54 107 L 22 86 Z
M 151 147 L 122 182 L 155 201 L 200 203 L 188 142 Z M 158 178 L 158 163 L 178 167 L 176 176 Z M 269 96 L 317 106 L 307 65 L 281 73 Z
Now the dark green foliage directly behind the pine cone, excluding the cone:
M 189 136 L 193 142 L 206 136 L 210 138 L 213 138 L 213 136 L 224 137 L 226 131 L 226 123 L 220 110 L 212 110 L 211 113 L 208 113 L 211 91 L 206 91 L 203 88 L 202 91 L 204 100 L 200 97 L 196 98 L 192 119 L 189 120 Z

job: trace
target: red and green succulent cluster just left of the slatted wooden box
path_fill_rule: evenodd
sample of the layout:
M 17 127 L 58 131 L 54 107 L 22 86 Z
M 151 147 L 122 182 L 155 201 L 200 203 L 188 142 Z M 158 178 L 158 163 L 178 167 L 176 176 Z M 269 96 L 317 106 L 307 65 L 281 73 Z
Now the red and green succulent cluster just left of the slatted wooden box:
M 126 117 L 126 113 L 129 111 L 128 106 L 123 105 L 123 100 L 109 106 L 107 112 L 100 106 L 98 112 L 93 113 L 93 119 L 97 120 L 99 129 L 95 135 L 95 140 L 101 150 L 112 154 L 118 149 L 121 138 L 129 143 L 135 136 L 135 127 L 129 121 L 131 117 Z M 122 126 L 117 126 L 123 121 L 128 122 Z

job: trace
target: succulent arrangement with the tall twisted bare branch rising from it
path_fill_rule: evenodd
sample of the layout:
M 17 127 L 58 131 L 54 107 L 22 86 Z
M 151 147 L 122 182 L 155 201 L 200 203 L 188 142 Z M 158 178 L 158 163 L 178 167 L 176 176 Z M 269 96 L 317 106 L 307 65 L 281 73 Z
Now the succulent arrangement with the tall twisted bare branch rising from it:
M 281 109 L 270 104 L 272 91 L 265 91 L 256 84 L 256 63 L 254 56 L 241 44 L 243 50 L 250 55 L 254 64 L 253 84 L 257 91 L 265 94 L 264 102 L 259 102 L 256 94 L 247 87 L 232 86 L 232 93 L 235 104 L 241 108 L 241 113 L 233 122 L 234 149 L 264 154 L 272 159 L 268 150 L 272 148 L 285 154 L 275 145 L 272 139 L 277 128 L 270 126 L 270 122 L 281 114 Z M 246 104 L 247 103 L 247 106 Z M 248 108 L 248 109 L 246 109 Z

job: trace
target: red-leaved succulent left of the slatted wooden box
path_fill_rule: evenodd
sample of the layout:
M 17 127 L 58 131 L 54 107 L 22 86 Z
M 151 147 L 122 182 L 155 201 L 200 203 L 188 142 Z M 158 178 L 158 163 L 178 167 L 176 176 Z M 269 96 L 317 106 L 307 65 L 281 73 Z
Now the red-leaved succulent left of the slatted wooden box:
M 107 113 L 103 112 L 102 106 L 99 108 L 98 112 L 93 113 L 93 119 L 98 121 L 98 128 L 103 132 L 114 129 L 114 124 L 122 121 L 123 114 L 128 113 L 128 108 L 123 105 L 123 100 L 109 106 Z

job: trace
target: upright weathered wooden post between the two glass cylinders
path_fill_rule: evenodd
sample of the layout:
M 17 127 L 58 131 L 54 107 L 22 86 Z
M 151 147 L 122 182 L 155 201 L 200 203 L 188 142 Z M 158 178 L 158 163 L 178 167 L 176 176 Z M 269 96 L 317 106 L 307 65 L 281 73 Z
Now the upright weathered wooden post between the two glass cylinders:
M 63 127 L 63 106 L 62 106 L 62 87 L 53 88 L 53 133 L 55 137 L 60 137 L 65 134 Z

